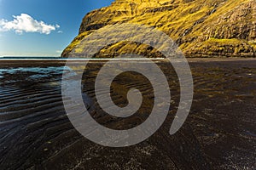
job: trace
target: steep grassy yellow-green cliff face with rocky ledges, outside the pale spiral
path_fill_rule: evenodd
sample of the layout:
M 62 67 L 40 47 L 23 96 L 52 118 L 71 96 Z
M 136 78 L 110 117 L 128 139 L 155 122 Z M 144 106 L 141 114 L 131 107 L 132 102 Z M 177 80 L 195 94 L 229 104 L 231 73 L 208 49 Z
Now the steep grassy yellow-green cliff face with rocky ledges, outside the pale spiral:
M 67 57 L 91 32 L 118 23 L 154 26 L 172 37 L 187 57 L 256 56 L 255 0 L 116 0 L 85 15 L 79 36 L 61 56 Z M 124 54 L 124 48 L 125 53 L 129 52 L 127 48 L 138 54 L 150 53 L 142 47 L 119 42 L 95 57 Z

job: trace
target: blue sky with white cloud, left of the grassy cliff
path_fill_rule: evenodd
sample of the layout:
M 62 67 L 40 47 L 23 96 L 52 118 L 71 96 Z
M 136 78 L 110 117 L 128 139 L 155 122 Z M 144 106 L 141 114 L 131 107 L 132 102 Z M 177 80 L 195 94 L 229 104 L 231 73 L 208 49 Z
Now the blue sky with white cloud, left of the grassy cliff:
M 0 0 L 0 56 L 59 56 L 85 14 L 113 0 Z

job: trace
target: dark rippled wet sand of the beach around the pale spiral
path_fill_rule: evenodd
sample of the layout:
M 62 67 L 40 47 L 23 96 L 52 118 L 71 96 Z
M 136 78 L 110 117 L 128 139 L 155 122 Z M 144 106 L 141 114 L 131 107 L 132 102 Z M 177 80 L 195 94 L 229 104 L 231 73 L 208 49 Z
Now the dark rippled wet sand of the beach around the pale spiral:
M 154 96 L 140 75 L 122 74 L 112 84 L 113 102 L 119 106 L 127 104 L 128 88 L 143 92 L 143 105 L 134 116 L 108 116 L 95 103 L 94 82 L 103 63 L 93 61 L 84 72 L 83 92 L 94 106 L 91 116 L 114 129 L 143 123 Z M 175 72 L 158 63 L 171 87 L 170 113 L 153 136 L 125 148 L 94 144 L 74 129 L 61 98 L 61 76 L 67 71 L 63 65 L 65 61 L 0 61 L 1 169 L 256 168 L 255 59 L 189 59 L 193 105 L 183 127 L 172 136 L 179 86 Z

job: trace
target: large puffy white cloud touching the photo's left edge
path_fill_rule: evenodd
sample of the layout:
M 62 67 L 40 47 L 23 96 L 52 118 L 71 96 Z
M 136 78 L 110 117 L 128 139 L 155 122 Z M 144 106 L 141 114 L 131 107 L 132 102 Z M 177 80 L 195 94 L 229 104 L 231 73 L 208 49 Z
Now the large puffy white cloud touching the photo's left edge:
M 23 32 L 38 32 L 41 34 L 49 34 L 60 28 L 59 25 L 47 25 L 44 21 L 34 20 L 29 14 L 20 14 L 13 16 L 14 20 L 0 20 L 0 31 L 15 31 L 18 34 Z

